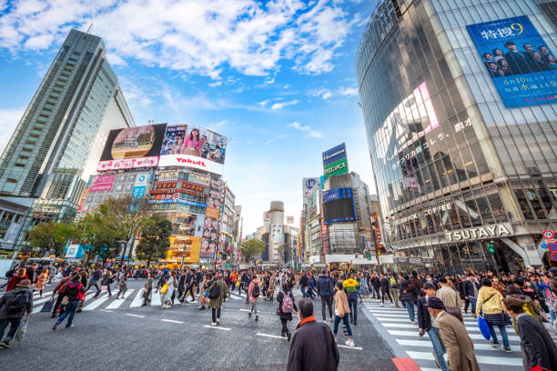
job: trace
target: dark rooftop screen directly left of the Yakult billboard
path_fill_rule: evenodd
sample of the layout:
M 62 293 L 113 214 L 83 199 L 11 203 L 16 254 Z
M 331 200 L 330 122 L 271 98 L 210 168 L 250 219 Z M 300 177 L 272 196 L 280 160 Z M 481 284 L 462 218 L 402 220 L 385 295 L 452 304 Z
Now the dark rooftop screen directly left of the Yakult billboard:
M 166 128 L 157 124 L 111 130 L 96 170 L 157 166 Z

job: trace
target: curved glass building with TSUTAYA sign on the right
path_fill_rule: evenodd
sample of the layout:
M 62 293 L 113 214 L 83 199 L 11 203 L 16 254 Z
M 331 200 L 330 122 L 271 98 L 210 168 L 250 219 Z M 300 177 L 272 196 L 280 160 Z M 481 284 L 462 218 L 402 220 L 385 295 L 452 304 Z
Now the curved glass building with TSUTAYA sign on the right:
M 441 271 L 547 263 L 556 2 L 380 1 L 356 69 L 386 244 Z M 551 258 L 550 258 L 551 259 Z

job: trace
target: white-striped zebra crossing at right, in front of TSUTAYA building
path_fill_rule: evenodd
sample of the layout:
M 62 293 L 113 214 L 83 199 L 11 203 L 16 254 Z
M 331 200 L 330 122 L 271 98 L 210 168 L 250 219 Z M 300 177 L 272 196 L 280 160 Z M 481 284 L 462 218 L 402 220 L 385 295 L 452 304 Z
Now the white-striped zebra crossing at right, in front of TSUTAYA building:
M 432 371 L 439 369 L 435 366 L 433 357 L 433 346 L 431 345 L 428 335 L 420 337 L 418 333 L 418 325 L 410 323 L 408 312 L 405 308 L 397 308 L 392 304 L 380 306 L 379 301 L 366 301 L 363 304 L 366 315 L 380 330 L 380 334 L 390 343 L 396 343 L 398 347 L 403 349 L 407 356 L 412 358 L 423 371 Z M 418 309 L 415 307 L 416 320 L 418 317 Z M 477 320 L 470 314 L 464 314 L 464 326 L 468 331 L 474 344 L 474 353 L 482 370 L 522 370 L 522 355 L 520 347 L 520 338 L 514 332 L 512 326 L 507 326 L 507 335 L 511 345 L 512 353 L 505 353 L 501 348 L 491 346 L 491 341 L 485 340 L 481 336 L 478 328 Z M 382 327 L 382 328 L 381 328 Z M 495 330 L 502 347 L 502 338 L 499 330 Z

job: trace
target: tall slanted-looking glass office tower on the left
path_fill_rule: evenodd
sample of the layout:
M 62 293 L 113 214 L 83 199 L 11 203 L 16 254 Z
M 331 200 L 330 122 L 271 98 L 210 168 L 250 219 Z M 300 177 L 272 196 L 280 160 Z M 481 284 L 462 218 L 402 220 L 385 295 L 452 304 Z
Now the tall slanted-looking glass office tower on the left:
M 133 125 L 101 38 L 71 30 L 0 157 L 0 213 L 34 199 L 0 226 L 19 231 L 0 233 L 0 247 L 25 244 L 36 223 L 73 219 L 109 130 Z

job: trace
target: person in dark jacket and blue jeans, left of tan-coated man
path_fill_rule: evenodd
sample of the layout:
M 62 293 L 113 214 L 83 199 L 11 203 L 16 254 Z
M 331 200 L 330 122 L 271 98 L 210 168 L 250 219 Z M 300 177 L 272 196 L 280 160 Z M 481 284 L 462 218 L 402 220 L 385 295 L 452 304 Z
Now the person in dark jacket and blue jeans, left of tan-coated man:
M 441 342 L 439 334 L 439 325 L 437 319 L 430 315 L 428 310 L 428 300 L 430 297 L 435 296 L 435 286 L 432 283 L 426 282 L 423 285 L 426 295 L 418 299 L 418 332 L 423 336 L 426 332 L 430 337 L 431 346 L 433 346 L 433 359 L 435 364 L 441 368 L 442 371 L 449 371 L 449 366 L 443 357 L 447 350 Z

